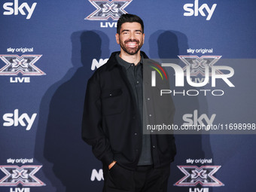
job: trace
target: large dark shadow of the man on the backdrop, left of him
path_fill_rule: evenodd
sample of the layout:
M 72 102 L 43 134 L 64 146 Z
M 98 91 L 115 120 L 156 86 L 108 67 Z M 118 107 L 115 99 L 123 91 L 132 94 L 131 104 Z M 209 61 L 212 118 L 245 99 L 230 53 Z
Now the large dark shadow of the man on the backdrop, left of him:
M 108 58 L 109 39 L 103 32 L 81 31 L 71 41 L 73 66 L 41 101 L 35 158 L 56 192 L 100 191 L 102 182 L 93 183 L 90 176 L 101 164 L 81 139 L 81 119 L 92 60 Z

